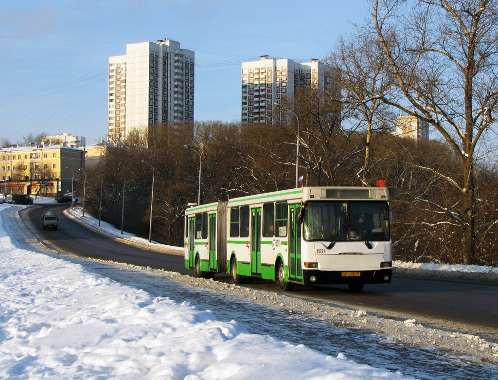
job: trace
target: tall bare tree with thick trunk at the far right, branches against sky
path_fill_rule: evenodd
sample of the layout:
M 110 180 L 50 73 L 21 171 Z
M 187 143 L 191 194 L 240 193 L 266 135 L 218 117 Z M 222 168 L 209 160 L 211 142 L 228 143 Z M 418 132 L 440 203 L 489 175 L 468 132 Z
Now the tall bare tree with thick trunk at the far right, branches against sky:
M 475 166 L 498 101 L 497 1 L 373 0 L 372 15 L 400 97 L 383 101 L 433 126 L 460 161 L 458 177 L 439 173 L 460 201 L 437 207 L 461 227 L 464 262 L 474 263 Z

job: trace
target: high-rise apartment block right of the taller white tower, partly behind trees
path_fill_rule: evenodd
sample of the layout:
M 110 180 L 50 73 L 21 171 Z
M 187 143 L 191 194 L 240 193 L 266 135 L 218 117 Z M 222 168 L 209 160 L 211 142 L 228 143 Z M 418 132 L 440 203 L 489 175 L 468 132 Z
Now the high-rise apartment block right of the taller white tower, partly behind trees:
M 330 67 L 317 59 L 295 62 L 291 59 L 262 55 L 259 61 L 242 64 L 242 123 L 279 123 L 287 113 L 275 109 L 274 103 L 292 99 L 299 88 L 330 90 L 333 86 Z

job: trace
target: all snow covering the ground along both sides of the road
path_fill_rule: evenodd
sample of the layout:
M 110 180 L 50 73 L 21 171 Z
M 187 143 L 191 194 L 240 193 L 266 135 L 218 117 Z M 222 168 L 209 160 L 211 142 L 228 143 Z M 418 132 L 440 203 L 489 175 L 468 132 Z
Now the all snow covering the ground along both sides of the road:
M 35 200 L 35 203 L 37 201 L 46 202 Z M 404 379 L 414 376 L 424 379 L 484 379 L 498 374 L 496 369 L 469 367 L 465 362 L 462 364 L 460 360 L 444 358 L 441 356 L 443 354 L 434 354 L 430 350 L 420 354 L 413 348 L 405 349 L 389 339 L 382 338 L 379 344 L 378 338 L 369 338 L 368 334 L 355 330 L 350 334 L 341 331 L 344 328 L 331 327 L 330 324 L 311 326 L 310 330 L 318 339 L 312 335 L 308 342 L 320 342 L 327 337 L 318 346 L 312 345 L 315 350 L 296 344 L 295 341 L 290 344 L 275 339 L 273 337 L 278 335 L 271 331 L 269 335 L 250 333 L 254 329 L 250 327 L 253 322 L 247 311 L 237 311 L 235 319 L 239 322 L 236 322 L 230 319 L 232 317 L 223 316 L 220 312 L 223 307 L 207 304 L 196 309 L 191 305 L 200 303 L 194 302 L 191 290 L 182 293 L 184 296 L 176 295 L 176 301 L 173 301 L 153 295 L 153 292 L 126 286 L 123 281 L 112 281 L 88 269 L 87 265 L 53 257 L 42 251 L 18 248 L 20 245 L 5 234 L 5 223 L 8 222 L 5 218 L 7 215 L 10 218 L 12 214 L 6 214 L 4 210 L 11 207 L 0 205 L 0 378 L 248 379 L 263 376 L 291 379 Z M 82 219 L 79 208 L 72 215 Z M 84 221 L 98 225 L 98 221 L 88 214 Z M 104 222 L 99 229 L 122 237 L 119 230 Z M 123 238 L 133 244 L 149 245 L 147 240 L 126 233 Z M 156 243 L 152 243 L 150 248 L 181 251 Z M 475 272 L 485 270 L 470 269 Z M 140 277 L 143 277 L 143 273 Z M 171 277 L 177 276 L 171 274 Z M 285 302 L 284 307 L 290 307 L 288 299 L 283 300 L 275 293 L 256 295 L 250 289 L 212 280 L 183 278 L 183 281 L 196 281 L 195 285 L 201 287 L 202 291 L 218 289 L 220 303 L 225 302 L 224 297 L 228 297 L 228 294 L 242 293 L 246 299 L 247 296 L 251 300 L 267 297 L 272 298 L 273 303 L 283 305 Z M 160 286 L 163 285 L 164 280 Z M 180 286 L 172 287 L 176 289 Z M 203 297 L 206 298 L 205 294 Z M 348 328 L 355 328 L 350 322 L 352 320 L 358 320 L 358 324 L 364 326 L 388 323 L 365 315 L 361 310 L 348 319 L 346 314 L 351 311 L 331 310 L 313 303 L 296 305 L 292 304 L 294 314 L 291 312 L 287 318 L 295 318 L 292 315 L 296 314 L 297 308 L 305 310 L 305 307 L 309 307 L 320 309 L 317 312 L 327 316 L 338 314 L 342 325 L 346 324 Z M 239 309 L 244 306 L 239 304 L 236 307 Z M 264 311 L 261 315 L 264 314 L 268 312 Z M 264 324 L 264 317 L 253 316 L 253 319 L 257 318 L 261 320 L 254 321 L 254 324 Z M 241 320 L 244 322 L 241 323 Z M 489 343 L 480 341 L 477 336 L 457 334 L 455 337 L 446 334 L 442 337 L 437 335 L 440 332 L 422 331 L 415 321 L 392 323 L 396 330 L 407 329 L 410 334 L 415 334 L 419 342 L 424 334 L 430 340 L 448 339 L 450 345 L 452 341 L 463 338 L 470 340 L 469 344 L 475 345 L 479 351 L 487 347 L 492 355 L 493 352 L 498 353 L 498 348 L 491 347 L 490 350 Z M 274 321 L 272 324 L 275 324 Z M 298 329 L 302 329 L 299 326 L 303 324 L 310 325 L 299 319 L 290 324 L 295 324 Z M 264 328 L 257 331 L 261 330 L 264 334 Z M 290 339 L 292 332 L 287 335 Z M 348 336 L 354 336 L 353 341 Z M 335 341 L 327 342 L 327 339 Z M 372 344 L 375 346 L 370 346 Z M 331 345 L 334 346 L 332 350 Z M 356 362 L 348 360 L 341 352 L 356 352 Z M 407 359 L 407 356 L 411 358 Z M 406 365 L 410 361 L 413 364 Z M 362 362 L 379 369 L 360 364 Z M 433 372 L 424 373 L 424 366 L 429 366 Z M 397 369 L 402 369 L 402 373 L 397 372 Z M 462 376 L 455 376 L 456 373 L 462 373 Z

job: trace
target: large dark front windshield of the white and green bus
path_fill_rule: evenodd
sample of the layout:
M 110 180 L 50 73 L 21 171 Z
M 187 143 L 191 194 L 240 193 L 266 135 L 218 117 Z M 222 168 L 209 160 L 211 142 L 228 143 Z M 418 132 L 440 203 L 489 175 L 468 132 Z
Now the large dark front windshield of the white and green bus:
M 389 241 L 387 202 L 320 201 L 305 207 L 307 241 Z

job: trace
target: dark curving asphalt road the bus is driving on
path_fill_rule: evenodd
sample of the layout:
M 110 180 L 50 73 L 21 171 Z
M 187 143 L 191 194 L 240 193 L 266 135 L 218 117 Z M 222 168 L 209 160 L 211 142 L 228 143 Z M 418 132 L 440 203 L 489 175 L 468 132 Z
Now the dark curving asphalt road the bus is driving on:
M 121 261 L 191 272 L 183 266 L 183 256 L 157 253 L 126 245 L 82 227 L 67 218 L 68 205 L 42 205 L 23 209 L 19 215 L 26 226 L 48 247 L 61 252 L 105 260 Z M 52 211 L 59 216 L 56 231 L 43 231 L 41 216 Z M 220 278 L 230 281 L 229 278 Z M 273 283 L 256 282 L 251 287 L 277 291 Z M 353 293 L 344 285 L 296 286 L 289 295 L 315 301 L 342 304 L 396 319 L 415 318 L 417 323 L 481 335 L 498 341 L 498 285 L 465 281 L 394 277 L 391 284 L 369 284 Z

